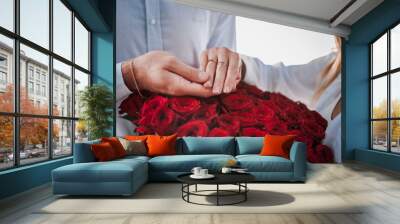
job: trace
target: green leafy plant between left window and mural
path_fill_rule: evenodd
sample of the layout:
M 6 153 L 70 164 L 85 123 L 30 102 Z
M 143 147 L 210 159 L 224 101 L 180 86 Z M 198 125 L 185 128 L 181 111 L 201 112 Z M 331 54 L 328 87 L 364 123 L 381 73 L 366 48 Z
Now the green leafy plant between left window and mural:
M 95 84 L 79 93 L 82 108 L 81 118 L 87 126 L 89 139 L 97 139 L 110 134 L 112 126 L 113 95 L 104 85 Z

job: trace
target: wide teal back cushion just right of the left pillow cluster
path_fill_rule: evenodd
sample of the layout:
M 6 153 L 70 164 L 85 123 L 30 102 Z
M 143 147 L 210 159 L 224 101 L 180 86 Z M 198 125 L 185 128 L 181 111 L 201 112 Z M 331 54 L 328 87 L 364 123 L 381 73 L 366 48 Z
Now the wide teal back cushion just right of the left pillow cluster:
M 233 137 L 183 137 L 180 140 L 181 154 L 226 154 L 235 155 Z

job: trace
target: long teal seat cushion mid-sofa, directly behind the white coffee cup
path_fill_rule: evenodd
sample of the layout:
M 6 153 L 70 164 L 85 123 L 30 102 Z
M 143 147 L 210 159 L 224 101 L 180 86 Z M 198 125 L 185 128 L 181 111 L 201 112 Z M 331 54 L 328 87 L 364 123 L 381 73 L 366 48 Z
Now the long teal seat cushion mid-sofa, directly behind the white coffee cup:
M 231 155 L 175 155 L 158 156 L 149 160 L 151 172 L 190 172 L 193 167 L 200 166 L 210 171 L 219 171 L 230 159 Z

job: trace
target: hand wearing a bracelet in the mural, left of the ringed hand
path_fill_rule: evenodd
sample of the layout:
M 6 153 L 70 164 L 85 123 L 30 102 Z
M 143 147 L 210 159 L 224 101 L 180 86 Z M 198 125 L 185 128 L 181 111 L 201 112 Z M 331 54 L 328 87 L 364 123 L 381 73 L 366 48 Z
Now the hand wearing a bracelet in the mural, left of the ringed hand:
M 203 86 L 208 80 L 205 72 L 186 65 L 164 51 L 151 51 L 122 63 L 122 74 L 129 89 L 149 90 L 172 96 L 209 97 L 211 89 Z M 130 81 L 132 80 L 132 81 Z

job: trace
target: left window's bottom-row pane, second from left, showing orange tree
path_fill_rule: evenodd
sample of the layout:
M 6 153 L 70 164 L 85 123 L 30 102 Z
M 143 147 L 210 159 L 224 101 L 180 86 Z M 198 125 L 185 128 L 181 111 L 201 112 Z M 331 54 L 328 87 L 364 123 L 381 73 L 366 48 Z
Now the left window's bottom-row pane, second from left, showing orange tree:
M 20 163 L 34 163 L 49 158 L 48 127 L 45 118 L 20 118 Z

